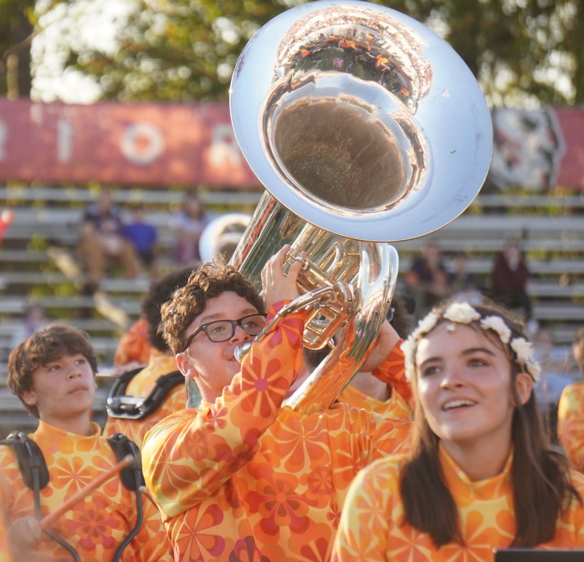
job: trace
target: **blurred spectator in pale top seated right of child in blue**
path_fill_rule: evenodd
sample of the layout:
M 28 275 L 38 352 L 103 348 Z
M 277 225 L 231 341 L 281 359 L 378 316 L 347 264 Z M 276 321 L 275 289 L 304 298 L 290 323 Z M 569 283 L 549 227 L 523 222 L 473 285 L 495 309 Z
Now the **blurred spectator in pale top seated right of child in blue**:
M 176 233 L 175 259 L 179 265 L 190 265 L 201 259 L 199 240 L 213 216 L 203 210 L 196 193 L 189 193 L 183 209 L 172 217 L 171 226 Z

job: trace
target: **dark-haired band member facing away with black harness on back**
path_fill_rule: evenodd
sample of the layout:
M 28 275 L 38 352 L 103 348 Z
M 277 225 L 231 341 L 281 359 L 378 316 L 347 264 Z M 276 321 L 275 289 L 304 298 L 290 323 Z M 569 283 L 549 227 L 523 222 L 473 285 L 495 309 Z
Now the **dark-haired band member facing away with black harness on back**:
M 148 429 L 186 407 L 185 378 L 176 366 L 174 353 L 158 333 L 158 324 L 162 305 L 185 285 L 193 270 L 181 268 L 166 274 L 152 283 L 144 297 L 142 318 L 147 326 L 150 360 L 144 368 L 120 374 L 112 387 L 105 437 L 120 432 L 142 447 Z

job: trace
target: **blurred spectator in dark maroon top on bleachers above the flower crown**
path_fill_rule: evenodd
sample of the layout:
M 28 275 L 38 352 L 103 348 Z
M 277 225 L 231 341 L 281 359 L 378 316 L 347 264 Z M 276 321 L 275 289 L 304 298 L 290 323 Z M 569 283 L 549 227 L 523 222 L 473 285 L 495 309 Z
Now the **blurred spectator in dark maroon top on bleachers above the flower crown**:
M 519 242 L 506 242 L 495 256 L 492 270 L 492 297 L 524 319 L 531 317 L 531 302 L 527 294 L 529 269 Z

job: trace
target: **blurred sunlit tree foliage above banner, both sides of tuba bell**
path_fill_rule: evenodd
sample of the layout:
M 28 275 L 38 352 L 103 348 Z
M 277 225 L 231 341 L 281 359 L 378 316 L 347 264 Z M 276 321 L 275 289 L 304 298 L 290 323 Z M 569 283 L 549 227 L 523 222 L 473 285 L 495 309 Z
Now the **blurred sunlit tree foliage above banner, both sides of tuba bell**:
M 0 0 L 0 6 L 10 3 Z M 237 57 L 253 33 L 302 3 L 135 0 L 115 52 L 69 45 L 65 66 L 93 77 L 103 99 L 226 99 Z M 584 102 L 583 0 L 377 3 L 436 30 L 470 67 L 492 105 Z

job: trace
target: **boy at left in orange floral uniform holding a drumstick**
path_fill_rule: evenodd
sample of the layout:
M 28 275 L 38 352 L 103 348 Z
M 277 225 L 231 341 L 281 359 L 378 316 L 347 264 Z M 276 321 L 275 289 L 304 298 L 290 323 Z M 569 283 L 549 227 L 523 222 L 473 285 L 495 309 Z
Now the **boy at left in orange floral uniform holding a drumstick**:
M 123 474 L 101 484 L 41 532 L 41 517 L 117 464 L 112 443 L 90 421 L 97 366 L 85 332 L 65 324 L 40 329 L 9 356 L 8 386 L 40 419 L 34 433 L 19 436 L 24 450 L 11 439 L 0 445 L 0 495 L 15 560 L 172 560 L 158 510 L 150 498 L 126 487 Z M 132 445 L 128 450 L 138 451 Z M 140 467 L 130 470 L 133 481 L 136 470 Z M 33 474 L 32 482 L 27 473 Z

